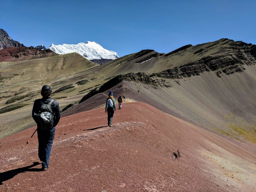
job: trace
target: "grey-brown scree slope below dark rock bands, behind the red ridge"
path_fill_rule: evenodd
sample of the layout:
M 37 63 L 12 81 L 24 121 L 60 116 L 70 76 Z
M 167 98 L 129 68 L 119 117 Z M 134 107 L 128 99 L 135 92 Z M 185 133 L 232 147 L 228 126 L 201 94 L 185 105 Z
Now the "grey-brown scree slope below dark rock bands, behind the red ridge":
M 221 78 L 213 71 L 179 80 L 128 73 L 92 90 L 63 115 L 102 106 L 106 97 L 100 94 L 112 90 L 115 98 L 125 95 L 206 129 L 256 144 L 255 74 L 254 65 Z

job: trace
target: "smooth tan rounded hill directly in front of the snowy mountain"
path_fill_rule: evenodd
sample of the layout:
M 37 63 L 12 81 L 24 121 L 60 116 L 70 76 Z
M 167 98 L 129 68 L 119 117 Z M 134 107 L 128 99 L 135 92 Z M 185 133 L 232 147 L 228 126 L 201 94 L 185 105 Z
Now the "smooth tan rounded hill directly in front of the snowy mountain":
M 19 62 L 1 62 L 4 85 L 27 80 L 40 80 L 89 69 L 97 64 L 77 53 Z

